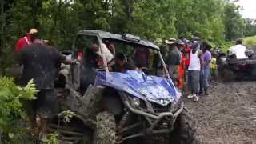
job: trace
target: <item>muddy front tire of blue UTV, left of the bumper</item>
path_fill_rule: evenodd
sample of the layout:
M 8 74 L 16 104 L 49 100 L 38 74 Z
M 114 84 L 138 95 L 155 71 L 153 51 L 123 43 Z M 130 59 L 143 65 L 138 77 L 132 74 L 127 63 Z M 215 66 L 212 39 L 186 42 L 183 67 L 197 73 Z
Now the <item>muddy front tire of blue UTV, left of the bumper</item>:
M 96 117 L 96 121 L 94 144 L 114 144 L 116 140 L 114 114 L 108 112 L 99 113 Z

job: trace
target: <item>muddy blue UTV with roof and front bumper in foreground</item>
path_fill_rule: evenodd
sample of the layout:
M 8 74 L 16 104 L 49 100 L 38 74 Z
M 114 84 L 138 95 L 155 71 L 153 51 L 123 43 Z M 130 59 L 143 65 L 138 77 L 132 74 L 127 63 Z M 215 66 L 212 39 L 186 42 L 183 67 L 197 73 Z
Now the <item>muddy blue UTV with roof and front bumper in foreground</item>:
M 95 44 L 103 58 L 99 67 L 87 65 L 87 49 Z M 137 70 L 111 71 L 115 61 L 110 53 L 103 54 L 105 44 L 113 45 L 115 53 L 125 54 Z M 150 64 L 153 55 L 162 63 L 161 77 Z M 55 84 L 60 111 L 71 110 L 75 115 L 65 123 L 62 113 L 51 123 L 58 138 L 84 144 L 195 142 L 194 119 L 184 109 L 158 46 L 131 34 L 81 30 L 71 57 L 80 59 L 80 64 L 62 66 Z

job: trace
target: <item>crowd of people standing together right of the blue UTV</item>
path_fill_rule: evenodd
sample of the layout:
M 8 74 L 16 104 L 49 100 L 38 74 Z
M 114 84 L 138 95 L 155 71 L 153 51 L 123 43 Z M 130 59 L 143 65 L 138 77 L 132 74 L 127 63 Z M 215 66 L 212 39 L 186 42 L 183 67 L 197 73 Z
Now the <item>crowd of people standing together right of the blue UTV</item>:
M 186 85 L 190 88 L 187 98 L 199 100 L 199 96 L 207 95 L 210 78 L 211 46 L 208 42 L 194 38 L 191 42 L 187 39 L 169 38 L 154 41 L 161 50 L 166 62 L 170 77 L 175 86 L 183 89 Z

